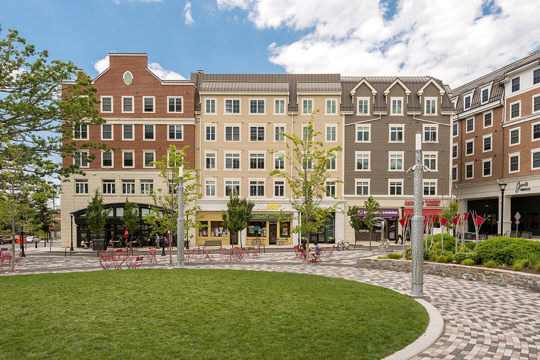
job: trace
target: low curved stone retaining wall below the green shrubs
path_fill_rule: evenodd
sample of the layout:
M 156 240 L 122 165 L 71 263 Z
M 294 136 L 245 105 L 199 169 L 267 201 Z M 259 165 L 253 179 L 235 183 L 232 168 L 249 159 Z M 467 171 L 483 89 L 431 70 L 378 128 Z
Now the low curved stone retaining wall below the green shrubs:
M 359 259 L 357 266 L 363 269 L 379 269 L 410 272 L 410 260 Z M 491 268 L 424 262 L 424 274 L 449 276 L 456 279 L 485 282 L 500 286 L 513 286 L 540 293 L 540 276 Z

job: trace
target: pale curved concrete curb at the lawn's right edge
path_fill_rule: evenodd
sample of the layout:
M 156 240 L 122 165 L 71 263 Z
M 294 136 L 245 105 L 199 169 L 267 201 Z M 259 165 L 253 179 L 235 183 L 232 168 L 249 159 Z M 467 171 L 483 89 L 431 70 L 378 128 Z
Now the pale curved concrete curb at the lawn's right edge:
M 426 300 L 422 300 L 420 298 L 415 298 L 414 300 L 422 304 L 422 306 L 428 310 L 428 328 L 412 344 L 381 360 L 408 360 L 431 347 L 431 345 L 433 345 L 442 336 L 444 332 L 444 320 L 441 313 L 439 313 L 439 311 Z

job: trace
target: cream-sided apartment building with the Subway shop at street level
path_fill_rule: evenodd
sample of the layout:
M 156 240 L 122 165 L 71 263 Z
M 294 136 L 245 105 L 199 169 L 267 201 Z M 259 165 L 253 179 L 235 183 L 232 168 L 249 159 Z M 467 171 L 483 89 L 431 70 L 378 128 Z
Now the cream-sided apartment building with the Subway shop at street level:
M 207 74 L 191 75 L 197 86 L 195 118 L 197 155 L 201 169 L 204 198 L 198 201 L 203 224 L 197 243 L 221 240 L 238 243 L 236 234 L 222 226 L 221 213 L 227 208 L 231 192 L 255 202 L 252 221 L 242 232 L 242 242 L 260 239 L 276 244 L 277 239 L 297 243 L 298 234 L 291 207 L 291 191 L 285 179 L 268 175 L 273 169 L 293 171 L 281 153 L 287 151 L 287 139 L 280 133 L 303 136 L 303 130 L 314 110 L 316 140 L 325 146 L 342 145 L 343 119 L 340 110 L 339 74 Z M 289 144 L 290 145 L 290 144 Z M 272 151 L 278 153 L 272 154 Z M 336 153 L 329 172 L 332 180 L 342 180 L 343 154 Z M 329 191 L 340 197 L 342 186 L 329 185 Z M 328 196 L 325 204 L 338 200 Z M 291 222 L 293 221 L 293 222 Z M 333 214 L 327 227 L 312 234 L 312 241 L 343 236 L 343 213 Z

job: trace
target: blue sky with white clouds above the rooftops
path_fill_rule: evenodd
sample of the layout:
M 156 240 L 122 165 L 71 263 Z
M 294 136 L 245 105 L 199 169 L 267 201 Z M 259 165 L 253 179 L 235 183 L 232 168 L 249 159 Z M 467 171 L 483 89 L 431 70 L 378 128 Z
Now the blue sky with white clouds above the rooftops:
M 91 77 L 145 52 L 163 79 L 206 73 L 433 76 L 456 88 L 540 49 L 538 0 L 0 0 L 51 59 Z

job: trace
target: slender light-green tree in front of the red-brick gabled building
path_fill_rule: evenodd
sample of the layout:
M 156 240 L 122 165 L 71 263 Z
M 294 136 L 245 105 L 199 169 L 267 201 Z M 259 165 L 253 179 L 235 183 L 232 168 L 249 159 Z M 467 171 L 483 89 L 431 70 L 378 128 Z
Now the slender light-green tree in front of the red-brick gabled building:
M 163 179 L 166 189 L 164 191 L 163 188 L 158 188 L 150 192 L 154 206 L 151 213 L 145 215 L 144 220 L 149 225 L 152 235 L 167 232 L 176 233 L 178 217 L 177 187 L 180 166 L 184 168 L 184 214 L 181 214 L 181 216 L 188 216 L 188 220 L 185 222 L 186 228 L 202 227 L 200 219 L 204 215 L 197 213 L 200 207 L 195 202 L 203 197 L 203 194 L 197 192 L 197 188 L 202 186 L 197 183 L 197 180 L 199 180 L 197 171 L 200 171 L 200 169 L 187 168 L 186 165 L 189 165 L 189 162 L 185 160 L 187 148 L 188 146 L 184 146 L 181 151 L 177 151 L 176 146 L 170 145 L 168 155 L 164 155 L 162 161 L 152 162 L 159 169 L 159 177 Z M 171 252 L 169 252 L 169 262 L 172 263 Z

